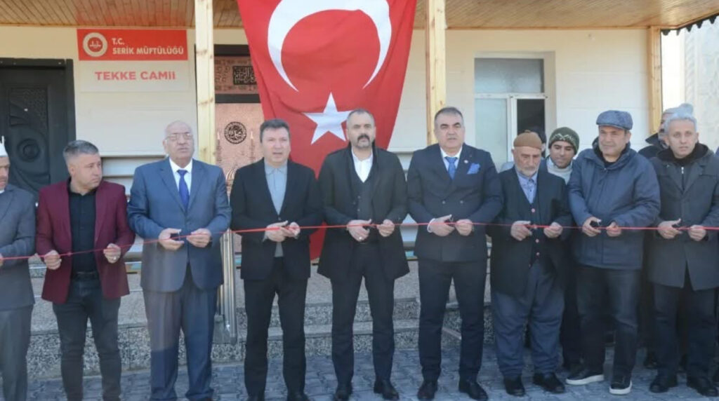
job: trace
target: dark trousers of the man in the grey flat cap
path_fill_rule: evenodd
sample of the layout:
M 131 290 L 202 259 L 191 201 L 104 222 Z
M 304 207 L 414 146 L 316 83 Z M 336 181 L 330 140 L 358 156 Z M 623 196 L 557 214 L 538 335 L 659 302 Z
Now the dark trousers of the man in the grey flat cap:
M 601 371 L 605 360 L 605 311 L 615 326 L 613 373 L 631 374 L 636 362 L 637 304 L 640 270 L 580 266 L 577 305 L 582 326 L 582 356 L 590 369 Z

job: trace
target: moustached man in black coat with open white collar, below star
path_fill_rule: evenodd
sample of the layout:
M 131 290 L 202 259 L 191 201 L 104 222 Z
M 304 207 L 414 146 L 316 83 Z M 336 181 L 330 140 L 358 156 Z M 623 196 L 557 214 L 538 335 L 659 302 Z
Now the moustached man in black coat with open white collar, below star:
M 372 311 L 374 390 L 385 400 L 398 400 L 390 382 L 392 311 L 395 279 L 409 268 L 395 225 L 407 215 L 407 184 L 398 157 L 374 146 L 375 118 L 369 111 L 352 110 L 346 133 L 349 146 L 327 155 L 319 174 L 327 224 L 346 226 L 327 232 L 318 270 L 332 283 L 334 400 L 352 394 L 352 324 L 362 278 Z

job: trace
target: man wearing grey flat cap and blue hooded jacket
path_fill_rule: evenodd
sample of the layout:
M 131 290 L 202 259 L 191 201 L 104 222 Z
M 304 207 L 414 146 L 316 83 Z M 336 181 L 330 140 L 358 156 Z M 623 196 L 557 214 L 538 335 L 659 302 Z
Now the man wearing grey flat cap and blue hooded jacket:
M 609 303 L 615 349 L 609 392 L 631 392 L 636 359 L 639 273 L 644 232 L 659 214 L 659 185 L 648 160 L 629 145 L 632 118 L 609 110 L 597 117 L 599 137 L 572 166 L 569 207 L 582 235 L 574 244 L 577 304 L 584 365 L 567 377 L 569 385 L 604 380 L 604 313 Z

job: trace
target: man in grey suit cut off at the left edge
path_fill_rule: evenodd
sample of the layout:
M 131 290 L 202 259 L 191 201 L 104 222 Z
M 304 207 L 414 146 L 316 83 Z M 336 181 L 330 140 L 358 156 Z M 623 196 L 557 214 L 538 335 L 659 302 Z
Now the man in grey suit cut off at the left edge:
M 27 259 L 35 253 L 35 201 L 7 183 L 10 159 L 0 138 L 0 367 L 7 401 L 27 399 L 32 295 Z

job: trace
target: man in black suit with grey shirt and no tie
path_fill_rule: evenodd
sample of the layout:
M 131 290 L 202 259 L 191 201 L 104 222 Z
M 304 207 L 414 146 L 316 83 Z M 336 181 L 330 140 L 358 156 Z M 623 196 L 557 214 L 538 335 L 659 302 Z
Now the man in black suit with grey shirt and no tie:
M 244 385 L 249 400 L 265 399 L 267 329 L 277 294 L 287 400 L 304 401 L 305 296 L 313 230 L 301 227 L 322 222 L 322 199 L 314 171 L 288 161 L 290 128 L 285 121 L 262 123 L 260 143 L 263 158 L 237 170 L 230 194 L 232 230 L 267 229 L 242 234 Z

